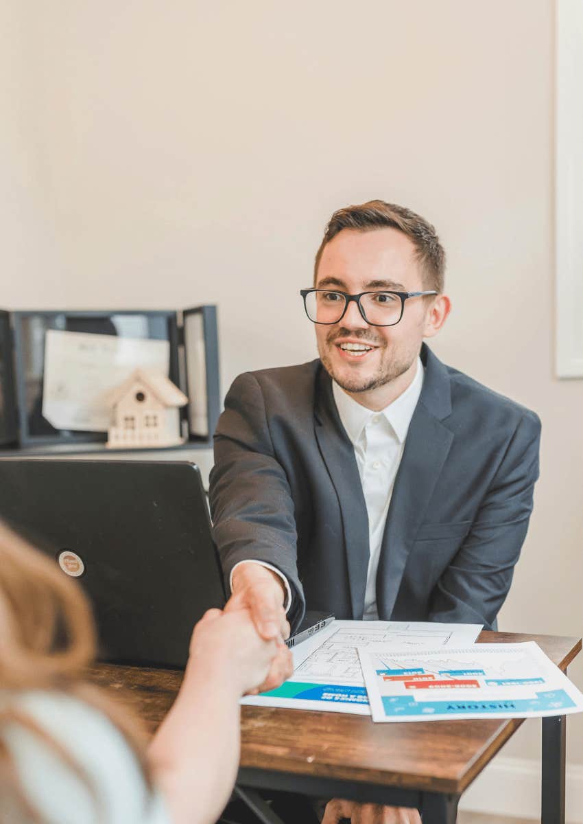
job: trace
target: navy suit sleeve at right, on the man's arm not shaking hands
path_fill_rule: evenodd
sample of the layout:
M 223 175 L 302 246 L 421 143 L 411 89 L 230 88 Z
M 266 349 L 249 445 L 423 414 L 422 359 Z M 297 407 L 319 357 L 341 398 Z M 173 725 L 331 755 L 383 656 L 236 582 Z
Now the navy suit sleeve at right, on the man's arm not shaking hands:
M 539 477 L 540 421 L 525 414 L 468 536 L 433 592 L 430 620 L 496 628 L 529 526 Z

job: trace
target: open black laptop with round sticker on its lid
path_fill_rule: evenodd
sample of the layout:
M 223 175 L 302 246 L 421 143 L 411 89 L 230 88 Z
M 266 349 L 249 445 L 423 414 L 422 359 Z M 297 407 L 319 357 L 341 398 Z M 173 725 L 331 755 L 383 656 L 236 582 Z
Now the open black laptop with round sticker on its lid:
M 102 660 L 184 666 L 194 624 L 224 606 L 192 463 L 3 458 L 0 517 L 82 584 Z M 289 644 L 329 620 L 306 614 Z

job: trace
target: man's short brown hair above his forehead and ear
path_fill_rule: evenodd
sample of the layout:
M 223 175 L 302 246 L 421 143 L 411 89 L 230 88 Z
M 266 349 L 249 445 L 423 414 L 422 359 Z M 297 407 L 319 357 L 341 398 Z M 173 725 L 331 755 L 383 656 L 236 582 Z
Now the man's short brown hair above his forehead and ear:
M 319 259 L 324 246 L 343 229 L 371 232 L 374 229 L 392 227 L 399 229 L 413 241 L 417 260 L 422 265 L 423 281 L 428 289 L 443 292 L 445 276 L 445 250 L 439 241 L 435 227 L 411 209 L 384 200 L 369 200 L 359 206 L 346 206 L 334 212 L 324 232 L 315 256 L 314 283 L 318 276 Z

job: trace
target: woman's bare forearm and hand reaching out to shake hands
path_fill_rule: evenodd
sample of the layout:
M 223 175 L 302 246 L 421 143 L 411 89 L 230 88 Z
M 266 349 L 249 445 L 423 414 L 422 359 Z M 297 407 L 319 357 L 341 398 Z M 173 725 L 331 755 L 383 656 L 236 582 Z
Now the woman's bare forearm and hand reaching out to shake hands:
M 264 680 L 278 649 L 259 638 L 249 611 L 210 610 L 198 622 L 180 693 L 148 752 L 173 824 L 211 824 L 225 808 L 239 764 L 239 698 Z M 290 655 L 282 667 L 283 680 Z

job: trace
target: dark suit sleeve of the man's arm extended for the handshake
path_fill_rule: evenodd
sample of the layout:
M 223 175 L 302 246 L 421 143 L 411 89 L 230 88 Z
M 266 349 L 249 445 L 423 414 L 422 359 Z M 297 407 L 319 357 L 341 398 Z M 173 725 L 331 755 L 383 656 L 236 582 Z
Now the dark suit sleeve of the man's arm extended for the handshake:
M 274 454 L 263 392 L 250 373 L 237 377 L 227 393 L 214 457 L 209 501 L 226 582 L 240 561 L 272 564 L 291 588 L 287 617 L 293 631 L 305 611 L 294 503 L 286 472 Z

